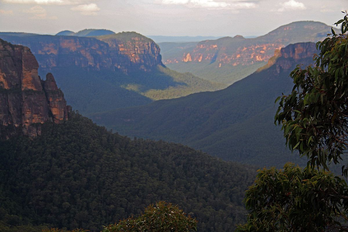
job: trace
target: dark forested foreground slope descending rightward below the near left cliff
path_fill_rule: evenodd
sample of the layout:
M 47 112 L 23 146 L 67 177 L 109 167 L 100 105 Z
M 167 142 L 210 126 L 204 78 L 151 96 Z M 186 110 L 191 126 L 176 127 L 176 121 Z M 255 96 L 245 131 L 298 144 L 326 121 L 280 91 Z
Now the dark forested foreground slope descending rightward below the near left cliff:
M 196 217 L 198 231 L 234 231 L 245 222 L 254 167 L 71 117 L 45 123 L 39 137 L 0 142 L 0 231 L 41 224 L 100 231 L 160 200 Z

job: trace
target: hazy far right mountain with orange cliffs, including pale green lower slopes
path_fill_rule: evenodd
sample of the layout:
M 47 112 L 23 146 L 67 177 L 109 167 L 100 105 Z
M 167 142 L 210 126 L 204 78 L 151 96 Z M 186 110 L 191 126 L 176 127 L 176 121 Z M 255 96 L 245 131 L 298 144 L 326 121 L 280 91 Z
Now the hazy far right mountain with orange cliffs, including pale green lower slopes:
M 293 22 L 256 38 L 240 35 L 199 43 L 160 43 L 163 63 L 178 72 L 226 84 L 243 79 L 265 65 L 275 49 L 291 43 L 317 42 L 331 26 L 313 21 Z

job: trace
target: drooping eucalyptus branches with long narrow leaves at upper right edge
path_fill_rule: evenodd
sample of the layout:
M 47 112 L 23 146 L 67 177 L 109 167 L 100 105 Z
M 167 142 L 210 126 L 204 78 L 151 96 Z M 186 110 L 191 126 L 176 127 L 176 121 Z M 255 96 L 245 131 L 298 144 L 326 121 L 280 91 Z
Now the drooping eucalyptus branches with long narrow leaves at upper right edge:
M 282 125 L 286 143 L 292 151 L 306 156 L 308 166 L 329 169 L 339 163 L 348 148 L 348 18 L 341 33 L 317 43 L 320 53 L 315 66 L 291 72 L 295 84 L 290 95 L 280 99 L 275 123 Z M 342 172 L 347 176 L 347 167 Z

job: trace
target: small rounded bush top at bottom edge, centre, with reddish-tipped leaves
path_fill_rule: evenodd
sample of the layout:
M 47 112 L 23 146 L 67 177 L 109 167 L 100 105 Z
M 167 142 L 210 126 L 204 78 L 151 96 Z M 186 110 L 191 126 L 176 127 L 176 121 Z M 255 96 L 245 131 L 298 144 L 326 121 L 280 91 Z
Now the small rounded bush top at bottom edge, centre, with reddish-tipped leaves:
M 159 201 L 145 208 L 139 217 L 109 225 L 103 232 L 189 232 L 197 231 L 197 221 L 172 203 Z

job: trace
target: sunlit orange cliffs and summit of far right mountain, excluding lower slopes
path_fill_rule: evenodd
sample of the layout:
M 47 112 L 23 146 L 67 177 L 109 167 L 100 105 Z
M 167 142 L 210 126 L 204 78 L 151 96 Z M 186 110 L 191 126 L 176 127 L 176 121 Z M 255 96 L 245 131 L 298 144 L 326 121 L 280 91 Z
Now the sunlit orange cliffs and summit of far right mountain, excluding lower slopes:
M 291 43 L 317 42 L 325 39 L 327 33 L 330 33 L 330 26 L 323 23 L 294 22 L 257 38 L 246 39 L 237 35 L 234 38 L 201 41 L 195 48 L 183 51 L 181 57 L 177 53 L 165 55 L 164 64 L 206 62 L 214 64 L 214 67 L 251 65 L 268 61 L 276 49 Z

